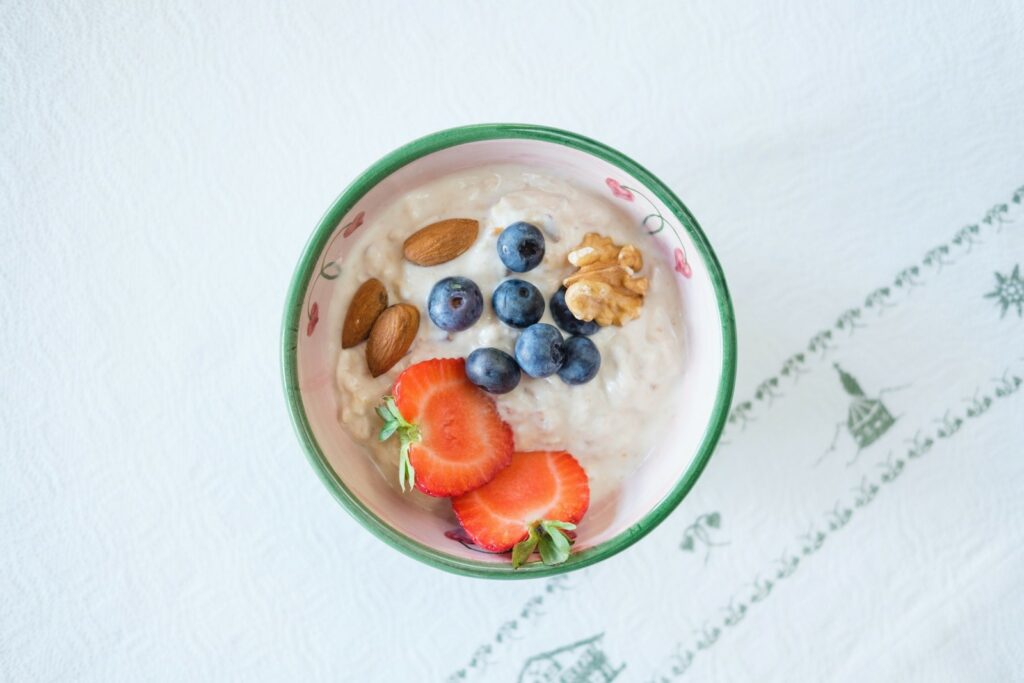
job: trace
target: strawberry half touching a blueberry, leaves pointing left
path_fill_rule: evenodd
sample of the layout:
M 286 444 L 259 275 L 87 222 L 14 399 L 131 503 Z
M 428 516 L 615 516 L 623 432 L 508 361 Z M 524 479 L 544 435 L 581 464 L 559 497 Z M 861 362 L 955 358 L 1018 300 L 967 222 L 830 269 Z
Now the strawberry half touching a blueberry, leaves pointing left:
M 401 442 L 398 483 L 427 496 L 460 496 L 490 481 L 512 460 L 512 429 L 495 400 L 466 377 L 463 358 L 410 366 L 377 414 L 380 439 Z

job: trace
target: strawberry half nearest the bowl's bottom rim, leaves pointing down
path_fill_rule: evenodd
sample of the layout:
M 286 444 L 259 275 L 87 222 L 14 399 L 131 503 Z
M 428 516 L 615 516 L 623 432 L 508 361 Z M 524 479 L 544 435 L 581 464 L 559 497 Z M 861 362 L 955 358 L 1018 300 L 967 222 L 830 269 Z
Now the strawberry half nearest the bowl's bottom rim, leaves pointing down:
M 517 453 L 512 464 L 476 490 L 452 500 L 462 527 L 476 545 L 512 549 L 512 566 L 540 547 L 545 564 L 564 562 L 590 504 L 587 472 L 564 451 Z

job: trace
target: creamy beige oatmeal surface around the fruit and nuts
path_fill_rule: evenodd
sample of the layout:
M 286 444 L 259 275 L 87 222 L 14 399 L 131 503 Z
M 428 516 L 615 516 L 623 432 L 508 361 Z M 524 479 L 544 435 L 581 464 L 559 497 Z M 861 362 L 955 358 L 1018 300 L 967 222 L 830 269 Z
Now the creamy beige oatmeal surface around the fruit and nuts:
M 479 237 L 468 251 L 429 267 L 402 258 L 402 243 L 410 234 L 450 217 L 479 221 Z M 537 225 L 546 239 L 543 262 L 524 273 L 508 272 L 497 255 L 498 234 L 516 221 Z M 498 319 L 490 308 L 492 292 L 514 276 L 532 283 L 550 300 L 562 280 L 577 270 L 567 255 L 588 232 L 640 250 L 641 272 L 649 280 L 642 313 L 623 327 L 604 327 L 590 337 L 602 360 L 589 383 L 568 386 L 557 375 L 545 379 L 523 375 L 517 388 L 495 399 L 512 427 L 517 451 L 566 450 L 580 460 L 589 474 L 595 505 L 607 499 L 657 442 L 678 402 L 684 365 L 680 296 L 671 265 L 654 253 L 654 241 L 631 224 L 610 200 L 527 167 L 487 166 L 422 185 L 370 216 L 361 229 L 367 236 L 345 259 L 331 318 L 344 317 L 353 293 L 370 278 L 384 284 L 392 303 L 411 303 L 422 313 L 410 352 L 380 377 L 371 377 L 362 345 L 343 350 L 339 345 L 339 419 L 355 440 L 366 444 L 392 485 L 397 486 L 397 446 L 393 440 L 377 439 L 381 422 L 374 409 L 395 378 L 414 362 L 465 357 L 479 347 L 512 353 L 521 331 Z M 464 332 L 439 330 L 426 314 L 431 288 L 449 275 L 473 280 L 486 302 L 480 319 Z M 550 310 L 541 322 L 554 324 Z M 413 496 L 426 507 L 447 506 L 443 499 L 419 492 Z

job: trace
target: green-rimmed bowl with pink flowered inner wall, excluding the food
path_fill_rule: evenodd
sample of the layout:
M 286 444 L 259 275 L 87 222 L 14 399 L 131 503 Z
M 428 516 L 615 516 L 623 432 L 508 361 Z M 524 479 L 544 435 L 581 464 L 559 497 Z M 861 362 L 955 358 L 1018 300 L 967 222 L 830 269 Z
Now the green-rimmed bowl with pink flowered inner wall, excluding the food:
M 686 336 L 678 413 L 652 453 L 623 480 L 616 504 L 581 523 L 563 564 L 513 569 L 507 556 L 481 553 L 453 533 L 454 517 L 403 499 L 338 421 L 335 373 L 344 306 L 332 306 L 333 281 L 360 230 L 409 189 L 447 173 L 515 163 L 568 178 L 614 202 L 636 225 L 634 244 L 666 259 L 676 273 Z M 736 367 L 735 322 L 725 276 L 696 219 L 653 174 L 595 140 L 516 124 L 465 126 L 392 152 L 335 200 L 299 259 L 282 330 L 285 393 L 310 464 L 341 505 L 367 529 L 407 555 L 447 571 L 528 579 L 580 569 L 630 547 L 660 523 L 700 476 L 725 424 Z M 595 515 L 595 518 L 592 518 Z

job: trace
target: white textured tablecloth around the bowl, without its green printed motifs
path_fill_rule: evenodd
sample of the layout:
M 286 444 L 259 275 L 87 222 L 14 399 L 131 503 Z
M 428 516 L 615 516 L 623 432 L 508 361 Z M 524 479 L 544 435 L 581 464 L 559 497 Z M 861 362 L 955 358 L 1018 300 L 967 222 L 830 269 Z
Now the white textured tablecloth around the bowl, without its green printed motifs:
M 655 533 L 572 574 L 467 669 L 545 589 L 400 556 L 313 475 L 279 379 L 302 245 L 345 184 L 419 135 L 584 133 L 705 226 L 749 396 L 869 283 L 1024 185 L 1022 37 L 1011 1 L 0 3 L 0 678 L 505 681 L 597 632 L 622 680 L 658 675 L 701 596 L 727 602 L 733 572 L 792 545 L 774 529 L 831 507 L 801 507 L 826 470 L 767 487 L 757 468 L 810 453 L 804 430 L 827 442 L 835 411 L 807 396 L 763 418 Z M 957 317 L 929 323 L 948 300 L 919 297 L 844 364 L 876 387 L 910 376 L 923 416 L 946 404 L 930 382 L 998 376 L 1024 347 L 1015 312 L 977 296 L 1024 260 L 1001 240 L 970 257 L 981 281 L 941 281 L 981 287 L 963 310 L 994 313 L 987 346 L 932 353 Z M 1024 677 L 1024 408 L 1007 401 L 908 465 L 683 675 Z M 827 472 L 859 479 L 842 459 Z M 701 566 L 678 545 L 712 509 L 731 542 Z

